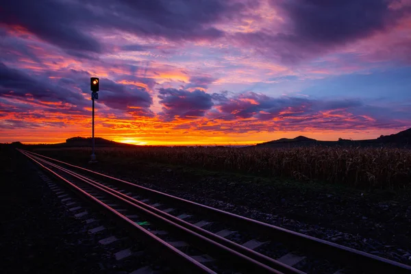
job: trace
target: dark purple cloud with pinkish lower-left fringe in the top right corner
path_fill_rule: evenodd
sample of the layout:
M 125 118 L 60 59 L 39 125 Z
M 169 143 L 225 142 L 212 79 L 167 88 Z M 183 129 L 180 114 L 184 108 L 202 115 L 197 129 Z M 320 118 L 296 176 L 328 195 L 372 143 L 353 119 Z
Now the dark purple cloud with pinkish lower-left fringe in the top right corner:
M 383 32 L 410 14 L 410 5 L 396 1 L 276 1 L 273 8 L 285 19 L 277 32 L 262 29 L 234 36 L 263 55 L 297 63 L 377 32 Z

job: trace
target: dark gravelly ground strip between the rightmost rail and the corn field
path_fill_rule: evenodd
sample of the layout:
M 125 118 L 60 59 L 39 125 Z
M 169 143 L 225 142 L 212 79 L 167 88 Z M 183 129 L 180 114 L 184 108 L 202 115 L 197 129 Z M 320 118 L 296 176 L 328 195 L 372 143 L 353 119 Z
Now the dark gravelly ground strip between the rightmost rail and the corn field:
M 356 190 L 185 166 L 37 151 L 192 201 L 411 264 L 410 190 Z M 98 151 L 97 151 L 98 157 Z

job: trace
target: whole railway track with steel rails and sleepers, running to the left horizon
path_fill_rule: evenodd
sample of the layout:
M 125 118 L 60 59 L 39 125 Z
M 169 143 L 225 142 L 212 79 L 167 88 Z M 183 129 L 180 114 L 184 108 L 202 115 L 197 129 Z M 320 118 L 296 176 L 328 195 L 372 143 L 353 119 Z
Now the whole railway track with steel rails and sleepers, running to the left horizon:
M 406 264 L 19 151 L 147 242 L 179 272 L 411 273 Z

